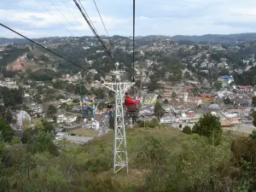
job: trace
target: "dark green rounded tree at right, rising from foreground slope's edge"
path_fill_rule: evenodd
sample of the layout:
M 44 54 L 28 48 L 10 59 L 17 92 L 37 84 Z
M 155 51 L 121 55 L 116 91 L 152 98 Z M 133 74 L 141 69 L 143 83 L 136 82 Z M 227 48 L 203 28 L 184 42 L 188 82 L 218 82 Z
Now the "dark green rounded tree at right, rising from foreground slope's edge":
M 193 126 L 192 132 L 207 137 L 213 145 L 218 145 L 221 141 L 222 127 L 217 116 L 204 113 Z

